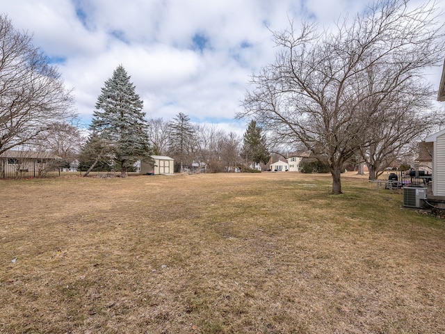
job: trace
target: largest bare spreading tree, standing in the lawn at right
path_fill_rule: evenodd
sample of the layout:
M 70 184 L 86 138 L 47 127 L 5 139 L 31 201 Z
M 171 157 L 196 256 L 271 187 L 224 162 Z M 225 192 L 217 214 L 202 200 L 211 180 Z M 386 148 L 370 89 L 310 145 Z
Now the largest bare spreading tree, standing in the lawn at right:
M 434 3 L 412 9 L 407 0 L 378 0 L 322 33 L 307 23 L 297 33 L 291 23 L 273 34 L 276 61 L 252 76 L 238 117 L 253 117 L 283 141 L 327 159 L 332 193 L 339 194 L 343 163 L 367 145 L 391 92 L 443 59 L 439 18 Z M 364 84 L 369 69 L 385 72 L 378 90 Z M 363 108 L 371 97 L 373 108 Z

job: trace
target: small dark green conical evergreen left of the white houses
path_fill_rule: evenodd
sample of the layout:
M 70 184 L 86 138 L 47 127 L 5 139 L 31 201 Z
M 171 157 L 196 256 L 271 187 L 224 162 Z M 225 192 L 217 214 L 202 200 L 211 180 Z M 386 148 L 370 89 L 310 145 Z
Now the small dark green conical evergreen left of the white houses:
M 245 159 L 246 164 L 252 162 L 252 167 L 260 162 L 267 164 L 270 159 L 270 154 L 266 147 L 266 135 L 261 134 L 261 132 L 262 129 L 257 126 L 257 122 L 251 120 L 243 136 L 241 157 Z

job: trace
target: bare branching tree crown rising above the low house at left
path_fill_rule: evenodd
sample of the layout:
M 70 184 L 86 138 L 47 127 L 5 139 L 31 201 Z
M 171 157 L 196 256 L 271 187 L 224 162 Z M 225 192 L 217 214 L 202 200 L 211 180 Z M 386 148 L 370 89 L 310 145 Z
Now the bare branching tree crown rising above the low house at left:
M 0 15 L 0 154 L 74 116 L 72 105 L 57 68 Z

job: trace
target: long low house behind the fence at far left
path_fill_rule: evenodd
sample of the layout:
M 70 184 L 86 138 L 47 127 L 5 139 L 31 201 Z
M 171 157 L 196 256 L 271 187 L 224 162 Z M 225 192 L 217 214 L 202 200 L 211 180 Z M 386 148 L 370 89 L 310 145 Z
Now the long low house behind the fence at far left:
M 0 154 L 0 177 L 38 177 L 58 171 L 62 160 L 49 152 L 7 150 Z

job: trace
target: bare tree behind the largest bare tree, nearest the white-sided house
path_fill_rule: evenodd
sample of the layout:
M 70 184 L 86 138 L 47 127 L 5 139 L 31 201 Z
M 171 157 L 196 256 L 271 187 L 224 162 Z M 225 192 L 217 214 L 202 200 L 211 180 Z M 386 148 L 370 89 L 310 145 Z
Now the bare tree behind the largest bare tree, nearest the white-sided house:
M 360 147 L 360 157 L 369 167 L 369 180 L 375 180 L 390 166 L 413 141 L 420 141 L 428 130 L 435 127 L 435 113 L 431 101 L 435 91 L 421 77 L 401 74 L 394 76 L 401 82 L 388 84 L 391 69 L 385 64 L 378 70 L 370 66 L 362 76 L 361 84 L 368 97 L 359 108 L 373 113 L 373 122 L 366 132 L 366 142 Z M 379 92 L 385 92 L 381 94 Z

